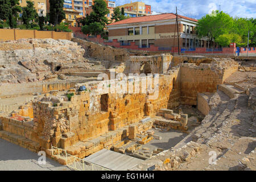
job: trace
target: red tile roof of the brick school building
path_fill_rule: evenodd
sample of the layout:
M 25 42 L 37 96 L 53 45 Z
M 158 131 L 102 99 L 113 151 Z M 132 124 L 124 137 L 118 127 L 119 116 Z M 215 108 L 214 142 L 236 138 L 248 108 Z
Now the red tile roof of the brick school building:
M 139 16 L 134 18 L 127 18 L 119 22 L 110 23 L 108 24 L 108 26 L 118 25 L 118 24 L 139 23 L 139 22 L 153 22 L 156 20 L 166 20 L 166 19 L 175 19 L 175 18 L 176 18 L 176 15 L 173 13 L 151 15 L 151 16 Z M 192 20 L 194 22 L 198 21 L 197 19 L 188 18 L 186 16 L 181 16 L 181 15 L 178 15 L 178 18 L 184 18 L 184 19 Z

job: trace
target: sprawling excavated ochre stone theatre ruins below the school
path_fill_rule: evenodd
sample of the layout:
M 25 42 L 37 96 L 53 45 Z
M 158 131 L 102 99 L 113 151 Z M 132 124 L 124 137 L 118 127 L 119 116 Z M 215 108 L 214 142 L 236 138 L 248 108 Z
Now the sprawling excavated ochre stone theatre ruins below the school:
M 60 164 L 256 169 L 255 59 L 19 39 L 0 43 L 0 81 L 0 138 Z

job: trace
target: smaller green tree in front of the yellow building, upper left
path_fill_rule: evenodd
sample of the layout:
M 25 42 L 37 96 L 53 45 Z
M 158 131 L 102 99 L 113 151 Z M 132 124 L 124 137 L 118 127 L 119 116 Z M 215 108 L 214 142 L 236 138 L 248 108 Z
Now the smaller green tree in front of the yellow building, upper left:
M 32 1 L 26 1 L 26 2 L 27 2 L 27 6 L 23 7 L 22 21 L 27 28 L 31 28 L 30 24 L 31 22 L 33 22 L 38 18 L 38 13 L 36 13 L 36 10 Z

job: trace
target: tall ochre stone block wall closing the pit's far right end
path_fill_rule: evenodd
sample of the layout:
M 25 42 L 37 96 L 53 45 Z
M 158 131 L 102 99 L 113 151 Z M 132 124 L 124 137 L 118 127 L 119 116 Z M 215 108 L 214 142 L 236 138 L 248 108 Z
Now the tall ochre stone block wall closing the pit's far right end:
M 216 92 L 217 85 L 237 70 L 238 64 L 233 60 L 201 63 L 199 66 L 189 63 L 181 65 L 181 104 L 196 105 L 198 92 Z

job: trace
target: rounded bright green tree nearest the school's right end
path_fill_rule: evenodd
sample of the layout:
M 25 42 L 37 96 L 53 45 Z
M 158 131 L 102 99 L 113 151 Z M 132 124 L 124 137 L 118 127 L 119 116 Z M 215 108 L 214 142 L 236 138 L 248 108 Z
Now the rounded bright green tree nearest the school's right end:
M 196 27 L 198 35 L 207 36 L 211 42 L 222 34 L 228 34 L 233 27 L 232 17 L 218 10 L 215 13 L 203 16 L 198 20 Z

